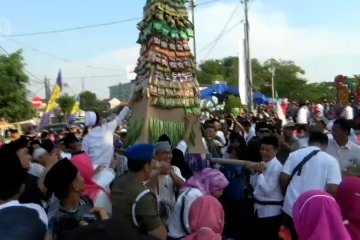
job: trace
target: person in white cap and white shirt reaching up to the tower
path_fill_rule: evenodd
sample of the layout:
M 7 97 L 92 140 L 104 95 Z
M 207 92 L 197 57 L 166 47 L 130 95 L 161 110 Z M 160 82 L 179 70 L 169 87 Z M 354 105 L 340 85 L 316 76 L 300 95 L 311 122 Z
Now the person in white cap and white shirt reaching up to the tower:
M 129 102 L 129 107 L 132 101 Z M 118 116 L 111 122 L 102 124 L 100 115 L 87 112 L 85 125 L 92 130 L 85 135 L 81 150 L 86 152 L 93 161 L 94 168 L 102 165 L 109 167 L 114 156 L 114 131 L 116 127 L 129 115 L 129 107 L 124 107 Z

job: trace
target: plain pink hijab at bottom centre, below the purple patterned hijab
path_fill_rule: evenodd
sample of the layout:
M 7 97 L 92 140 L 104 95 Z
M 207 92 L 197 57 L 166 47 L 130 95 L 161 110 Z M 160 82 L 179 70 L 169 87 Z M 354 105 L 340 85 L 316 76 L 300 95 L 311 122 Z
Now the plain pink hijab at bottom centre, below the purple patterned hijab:
M 212 196 L 197 198 L 190 207 L 189 224 L 192 234 L 183 240 L 221 240 L 224 210 Z

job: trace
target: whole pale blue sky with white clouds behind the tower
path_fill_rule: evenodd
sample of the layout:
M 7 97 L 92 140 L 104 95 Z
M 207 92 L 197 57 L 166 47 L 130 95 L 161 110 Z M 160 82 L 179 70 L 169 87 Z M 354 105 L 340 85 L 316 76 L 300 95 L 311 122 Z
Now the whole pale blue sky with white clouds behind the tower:
M 23 49 L 26 69 L 32 73 L 32 96 L 44 97 L 40 80 L 48 77 L 54 84 L 61 69 L 64 92 L 80 93 L 83 81 L 85 90 L 95 92 L 100 99 L 108 98 L 108 87 L 128 82 L 126 69 L 139 57 L 136 24 L 145 2 L 0 0 L 0 45 L 9 53 Z M 237 56 L 244 35 L 240 23 L 243 4 L 239 0 L 196 2 L 198 62 Z M 305 70 L 309 82 L 359 74 L 360 1 L 251 0 L 249 6 L 251 57 L 293 60 Z M 77 31 L 11 36 L 134 18 Z

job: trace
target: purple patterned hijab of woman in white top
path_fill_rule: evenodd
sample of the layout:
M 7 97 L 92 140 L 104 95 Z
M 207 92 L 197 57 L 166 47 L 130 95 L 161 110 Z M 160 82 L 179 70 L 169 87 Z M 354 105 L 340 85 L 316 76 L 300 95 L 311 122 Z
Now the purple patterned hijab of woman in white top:
M 229 185 L 229 181 L 219 170 L 204 168 L 189 178 L 187 187 L 197 188 L 205 195 L 212 195 L 217 190 L 222 190 Z

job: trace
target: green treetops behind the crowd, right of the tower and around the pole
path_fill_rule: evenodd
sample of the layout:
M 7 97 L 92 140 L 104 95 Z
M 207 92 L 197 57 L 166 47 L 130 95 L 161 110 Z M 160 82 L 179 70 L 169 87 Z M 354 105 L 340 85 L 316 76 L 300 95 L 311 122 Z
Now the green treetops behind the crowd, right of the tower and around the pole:
M 204 61 L 199 65 L 197 78 L 200 84 L 213 84 L 215 81 L 226 82 L 238 87 L 238 58 L 227 57 Z M 318 101 L 323 98 L 335 98 L 333 82 L 308 83 L 305 71 L 290 60 L 269 59 L 261 63 L 254 58 L 252 64 L 253 91 L 271 97 L 272 69 L 275 69 L 274 83 L 279 98 L 295 101 Z

